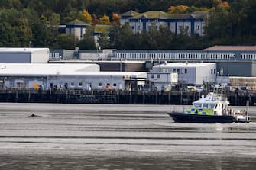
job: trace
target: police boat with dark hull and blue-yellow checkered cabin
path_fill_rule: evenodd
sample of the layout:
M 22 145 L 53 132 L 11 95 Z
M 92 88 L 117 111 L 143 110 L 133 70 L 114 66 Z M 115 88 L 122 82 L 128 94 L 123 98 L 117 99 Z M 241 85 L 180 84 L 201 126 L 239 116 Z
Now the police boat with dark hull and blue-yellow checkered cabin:
M 174 122 L 180 123 L 248 123 L 248 109 L 235 110 L 229 107 L 225 97 L 225 88 L 215 87 L 214 91 L 194 101 L 190 109 L 183 113 L 173 111 L 168 113 Z

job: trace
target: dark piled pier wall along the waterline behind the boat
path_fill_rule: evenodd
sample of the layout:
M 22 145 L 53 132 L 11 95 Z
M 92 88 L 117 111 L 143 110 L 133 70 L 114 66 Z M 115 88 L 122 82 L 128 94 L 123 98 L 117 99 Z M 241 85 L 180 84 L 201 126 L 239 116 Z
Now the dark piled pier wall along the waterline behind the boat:
M 0 102 L 63 104 L 184 104 L 190 105 L 209 91 L 86 91 L 2 89 Z M 256 105 L 256 92 L 228 91 L 231 105 Z

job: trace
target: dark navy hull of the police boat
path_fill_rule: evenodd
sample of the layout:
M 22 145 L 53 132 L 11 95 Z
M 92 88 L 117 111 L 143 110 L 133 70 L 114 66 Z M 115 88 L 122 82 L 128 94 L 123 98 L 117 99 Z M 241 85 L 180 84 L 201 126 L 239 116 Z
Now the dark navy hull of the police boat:
M 168 113 L 175 122 L 180 123 L 232 123 L 233 116 L 207 116 L 199 114 Z

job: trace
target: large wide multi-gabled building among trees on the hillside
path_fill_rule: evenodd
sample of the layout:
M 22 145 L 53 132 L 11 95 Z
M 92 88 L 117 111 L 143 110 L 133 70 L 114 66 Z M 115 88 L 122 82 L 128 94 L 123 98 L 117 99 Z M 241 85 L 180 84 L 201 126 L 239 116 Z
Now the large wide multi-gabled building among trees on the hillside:
M 128 23 L 134 33 L 149 30 L 154 26 L 157 30 L 168 27 L 174 34 L 185 32 L 188 35 L 203 36 L 206 22 L 206 11 L 194 11 L 190 14 L 170 14 L 164 11 L 146 11 L 138 14 L 128 11 L 121 14 L 121 25 Z

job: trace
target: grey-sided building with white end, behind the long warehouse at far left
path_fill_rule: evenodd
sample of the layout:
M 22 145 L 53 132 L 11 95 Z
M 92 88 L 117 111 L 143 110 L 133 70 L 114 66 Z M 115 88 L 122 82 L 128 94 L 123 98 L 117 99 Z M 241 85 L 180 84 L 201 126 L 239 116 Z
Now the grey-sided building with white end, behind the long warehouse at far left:
M 48 63 L 48 48 L 0 48 L 0 63 Z

